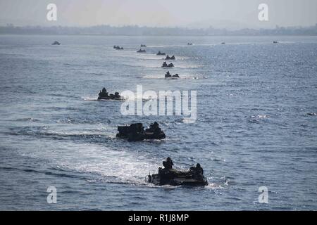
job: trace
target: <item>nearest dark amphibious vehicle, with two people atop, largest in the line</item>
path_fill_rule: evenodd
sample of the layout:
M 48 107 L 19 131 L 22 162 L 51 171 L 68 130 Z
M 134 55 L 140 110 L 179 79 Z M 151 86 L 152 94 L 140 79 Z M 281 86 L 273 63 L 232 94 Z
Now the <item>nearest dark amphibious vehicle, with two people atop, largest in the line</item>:
M 173 161 L 167 158 L 163 161 L 164 168 L 159 167 L 158 174 L 149 174 L 146 181 L 158 186 L 207 186 L 208 181 L 204 176 L 204 170 L 199 163 L 196 167 L 190 167 L 188 171 L 173 169 Z

